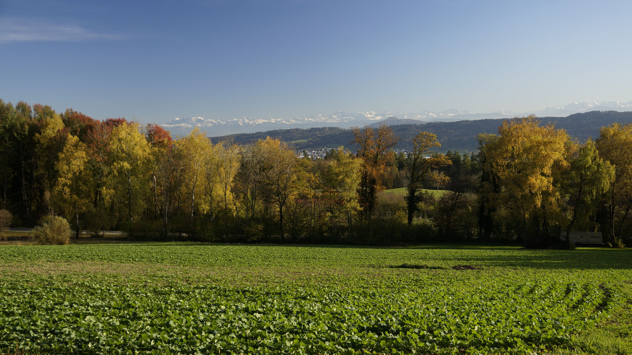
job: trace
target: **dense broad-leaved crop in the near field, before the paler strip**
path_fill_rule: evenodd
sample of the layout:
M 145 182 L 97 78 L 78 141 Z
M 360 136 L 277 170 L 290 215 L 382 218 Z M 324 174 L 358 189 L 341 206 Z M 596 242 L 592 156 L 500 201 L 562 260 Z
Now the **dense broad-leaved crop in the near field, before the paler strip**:
M 562 344 L 616 300 L 592 282 L 111 286 L 0 282 L 0 347 L 111 354 L 524 352 Z

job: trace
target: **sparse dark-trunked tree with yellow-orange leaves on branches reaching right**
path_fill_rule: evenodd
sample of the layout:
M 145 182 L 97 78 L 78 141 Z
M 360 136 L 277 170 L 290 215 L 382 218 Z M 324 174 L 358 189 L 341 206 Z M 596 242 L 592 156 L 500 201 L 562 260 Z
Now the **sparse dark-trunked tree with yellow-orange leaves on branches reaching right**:
M 430 174 L 432 169 L 439 169 L 444 165 L 452 164 L 451 160 L 443 154 L 432 154 L 428 157 L 432 148 L 441 147 L 437 141 L 437 135 L 428 132 L 420 132 L 413 138 L 413 150 L 408 156 L 408 166 L 406 169 L 406 212 L 408 213 L 408 226 L 413 223 L 413 215 L 417 210 L 417 203 L 420 196 L 417 191 L 421 189 L 424 181 L 436 181 L 441 179 L 437 174 Z M 441 182 L 443 182 L 441 181 Z M 438 182 L 438 181 L 437 181 Z

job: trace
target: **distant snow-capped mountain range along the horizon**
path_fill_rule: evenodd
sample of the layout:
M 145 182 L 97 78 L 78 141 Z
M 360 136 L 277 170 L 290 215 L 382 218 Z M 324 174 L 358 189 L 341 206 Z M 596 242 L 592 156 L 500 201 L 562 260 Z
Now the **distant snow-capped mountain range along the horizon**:
M 171 131 L 172 136 L 185 136 L 196 126 L 205 131 L 207 136 L 230 135 L 233 133 L 252 133 L 268 131 L 270 129 L 284 128 L 310 128 L 322 126 L 336 126 L 349 128 L 351 126 L 363 126 L 364 124 L 382 121 L 388 117 L 399 119 L 414 119 L 419 123 L 435 121 L 463 121 L 471 119 L 506 118 L 514 116 L 526 116 L 535 114 L 538 117 L 564 117 L 570 114 L 587 111 L 632 111 L 630 102 L 572 102 L 571 104 L 556 107 L 547 107 L 544 110 L 532 112 L 497 111 L 486 114 L 475 114 L 470 111 L 458 111 L 451 109 L 442 112 L 334 112 L 331 115 L 319 114 L 310 117 L 294 117 L 290 119 L 241 117 L 235 119 L 205 119 L 204 117 L 174 118 L 162 127 Z

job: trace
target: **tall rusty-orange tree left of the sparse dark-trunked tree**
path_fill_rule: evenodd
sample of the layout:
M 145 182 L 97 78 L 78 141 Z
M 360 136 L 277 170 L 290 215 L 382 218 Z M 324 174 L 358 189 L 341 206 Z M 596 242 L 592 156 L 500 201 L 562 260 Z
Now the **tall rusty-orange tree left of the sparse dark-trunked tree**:
M 375 207 L 375 193 L 384 190 L 380 178 L 384 167 L 394 159 L 391 148 L 397 145 L 399 138 L 384 123 L 377 131 L 368 125 L 363 129 L 353 127 L 353 135 L 359 146 L 358 157 L 363 163 L 358 189 L 360 206 L 365 214 L 370 215 Z

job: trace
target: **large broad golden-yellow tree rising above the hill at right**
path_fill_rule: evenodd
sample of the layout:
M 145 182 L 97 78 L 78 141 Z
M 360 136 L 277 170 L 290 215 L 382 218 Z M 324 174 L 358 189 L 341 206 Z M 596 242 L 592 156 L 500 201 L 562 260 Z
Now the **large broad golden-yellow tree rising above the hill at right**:
M 499 183 L 490 200 L 520 221 L 525 246 L 539 246 L 542 236 L 551 237 L 550 226 L 561 215 L 556 178 L 568 167 L 569 137 L 553 124 L 540 126 L 535 116 L 504 121 L 498 133 L 485 143 L 487 171 Z

